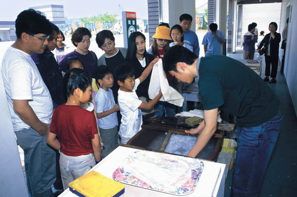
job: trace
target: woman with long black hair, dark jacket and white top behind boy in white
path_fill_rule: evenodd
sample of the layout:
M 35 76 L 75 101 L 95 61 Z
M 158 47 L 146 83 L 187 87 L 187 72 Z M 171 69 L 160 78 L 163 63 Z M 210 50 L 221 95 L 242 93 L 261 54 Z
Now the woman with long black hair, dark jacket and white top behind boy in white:
M 145 36 L 139 32 L 133 32 L 129 36 L 128 50 L 126 61 L 133 67 L 135 79 L 140 77 L 144 69 L 154 60 L 154 56 L 148 54 L 145 50 Z M 145 97 L 146 101 L 149 101 L 149 85 L 151 80 L 151 74 L 137 87 L 136 93 L 139 99 L 141 96 Z

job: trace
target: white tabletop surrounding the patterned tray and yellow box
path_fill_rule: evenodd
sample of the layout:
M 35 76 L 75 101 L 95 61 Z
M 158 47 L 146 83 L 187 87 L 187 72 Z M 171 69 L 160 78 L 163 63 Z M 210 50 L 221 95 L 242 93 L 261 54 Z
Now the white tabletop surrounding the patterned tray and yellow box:
M 91 170 L 101 173 L 109 178 L 112 178 L 113 172 L 119 167 L 120 163 L 129 154 L 134 153 L 137 149 L 132 149 L 129 147 L 119 146 L 106 158 L 104 158 L 100 163 L 94 166 Z M 156 153 L 159 154 L 159 153 Z M 182 156 L 178 156 L 182 157 Z M 188 194 L 188 197 L 212 197 L 224 196 L 225 187 L 225 164 L 203 161 L 204 170 L 197 183 L 195 190 Z M 150 189 L 144 189 L 141 187 L 136 187 L 128 184 L 125 185 L 125 193 L 121 197 L 156 197 L 156 196 L 176 196 L 173 194 L 163 193 L 159 191 L 154 191 Z M 69 188 L 59 195 L 60 197 L 76 197 Z

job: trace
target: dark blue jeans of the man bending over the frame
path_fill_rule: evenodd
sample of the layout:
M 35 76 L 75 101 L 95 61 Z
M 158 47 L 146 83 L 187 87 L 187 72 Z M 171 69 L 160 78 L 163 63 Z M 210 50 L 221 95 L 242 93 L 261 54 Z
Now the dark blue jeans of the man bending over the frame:
M 279 134 L 280 112 L 255 127 L 237 127 L 237 155 L 233 175 L 233 197 L 259 196 L 265 170 Z

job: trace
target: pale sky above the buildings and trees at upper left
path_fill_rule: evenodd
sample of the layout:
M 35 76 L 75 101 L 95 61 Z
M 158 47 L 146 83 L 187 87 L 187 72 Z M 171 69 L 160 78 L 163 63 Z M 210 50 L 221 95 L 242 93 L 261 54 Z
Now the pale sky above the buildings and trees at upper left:
M 106 12 L 117 14 L 119 18 L 122 16 L 122 11 L 130 11 L 136 12 L 137 18 L 147 19 L 147 0 L 1 0 L 1 2 L 0 21 L 15 21 L 18 14 L 29 7 L 51 4 L 63 5 L 64 14 L 68 18 L 91 17 Z

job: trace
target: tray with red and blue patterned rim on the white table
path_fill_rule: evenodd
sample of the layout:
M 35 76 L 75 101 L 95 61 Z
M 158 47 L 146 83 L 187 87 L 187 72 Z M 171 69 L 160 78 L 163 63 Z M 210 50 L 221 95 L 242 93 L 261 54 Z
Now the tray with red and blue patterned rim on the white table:
M 204 169 L 199 159 L 164 153 L 136 151 L 129 155 L 113 173 L 122 183 L 175 195 L 194 191 Z

